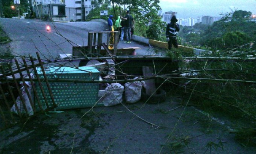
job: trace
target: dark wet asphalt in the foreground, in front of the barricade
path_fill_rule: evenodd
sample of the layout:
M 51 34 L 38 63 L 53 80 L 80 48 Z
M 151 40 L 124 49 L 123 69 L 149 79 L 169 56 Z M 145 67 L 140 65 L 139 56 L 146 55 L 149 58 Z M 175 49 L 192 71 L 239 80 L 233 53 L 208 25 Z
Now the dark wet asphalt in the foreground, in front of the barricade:
M 95 107 L 91 110 L 72 109 L 60 113 L 40 114 L 0 132 L 0 153 L 255 152 L 255 148 L 245 148 L 237 142 L 235 135 L 227 131 L 226 125 L 201 114 L 194 107 L 187 106 L 184 110 L 181 101 L 168 93 L 167 100 L 160 104 L 145 104 L 140 101 L 136 104 Z

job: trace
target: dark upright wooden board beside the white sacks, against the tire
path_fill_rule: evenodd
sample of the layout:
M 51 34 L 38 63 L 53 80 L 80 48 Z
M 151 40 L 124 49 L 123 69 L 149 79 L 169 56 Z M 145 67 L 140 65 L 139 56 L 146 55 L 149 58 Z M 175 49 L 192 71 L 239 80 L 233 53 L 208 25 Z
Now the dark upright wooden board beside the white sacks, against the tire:
M 142 72 L 144 76 L 153 76 L 153 68 L 149 67 L 149 66 L 142 66 Z M 147 96 L 151 96 L 151 95 L 156 95 L 155 91 L 156 91 L 156 85 L 155 85 L 155 80 L 151 79 L 151 80 L 145 80 L 144 81 L 146 84 L 146 94 Z

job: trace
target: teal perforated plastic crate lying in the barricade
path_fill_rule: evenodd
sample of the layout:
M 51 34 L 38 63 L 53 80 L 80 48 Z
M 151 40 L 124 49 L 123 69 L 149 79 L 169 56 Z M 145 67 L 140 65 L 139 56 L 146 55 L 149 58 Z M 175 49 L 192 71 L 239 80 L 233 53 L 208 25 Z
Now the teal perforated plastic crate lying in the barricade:
M 38 75 L 41 79 L 44 92 L 49 106 L 53 106 L 49 90 L 44 81 L 43 72 L 40 67 L 37 68 Z M 71 79 L 71 80 L 99 80 L 100 72 L 95 67 L 50 67 L 45 69 L 48 79 Z M 49 82 L 51 91 L 54 95 L 55 104 L 58 105 L 56 110 L 75 109 L 92 107 L 97 102 L 99 93 L 98 83 L 75 83 L 75 82 Z M 35 82 L 36 90 L 40 98 L 43 109 L 46 109 L 46 103 L 43 98 L 38 82 Z M 35 99 L 35 102 L 37 100 Z M 35 103 L 36 109 L 40 109 L 38 103 Z M 103 104 L 96 104 L 103 106 Z

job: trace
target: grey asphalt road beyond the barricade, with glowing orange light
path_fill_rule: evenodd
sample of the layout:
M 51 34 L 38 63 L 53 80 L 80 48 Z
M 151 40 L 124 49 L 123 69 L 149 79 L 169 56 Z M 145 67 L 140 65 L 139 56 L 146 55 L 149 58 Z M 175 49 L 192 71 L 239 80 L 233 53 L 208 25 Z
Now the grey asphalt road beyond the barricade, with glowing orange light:
M 35 52 L 54 59 L 60 53 L 72 53 L 73 46 L 87 46 L 88 32 L 106 31 L 107 24 L 103 20 L 89 22 L 51 23 L 38 19 L 6 19 L 0 18 L 4 31 L 11 38 L 11 50 L 14 56 L 36 56 Z M 51 27 L 50 31 L 46 26 Z M 103 42 L 106 42 L 103 35 Z M 118 48 L 136 46 L 137 55 L 151 55 L 154 48 L 132 42 L 124 44 L 120 41 Z

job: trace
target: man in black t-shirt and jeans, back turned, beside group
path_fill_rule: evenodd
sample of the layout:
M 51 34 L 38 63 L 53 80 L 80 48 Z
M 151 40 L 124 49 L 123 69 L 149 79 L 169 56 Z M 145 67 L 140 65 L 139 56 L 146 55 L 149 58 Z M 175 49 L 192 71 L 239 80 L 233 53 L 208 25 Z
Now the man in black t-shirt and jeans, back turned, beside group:
M 124 43 L 131 43 L 131 28 L 134 27 L 135 21 L 132 18 L 132 16 L 129 14 L 130 11 L 127 10 L 126 11 L 126 16 L 123 18 L 121 17 L 121 19 L 124 19 L 124 35 L 126 37 L 126 42 Z

